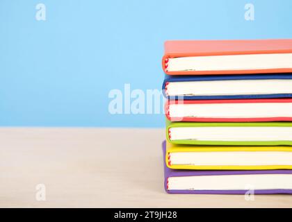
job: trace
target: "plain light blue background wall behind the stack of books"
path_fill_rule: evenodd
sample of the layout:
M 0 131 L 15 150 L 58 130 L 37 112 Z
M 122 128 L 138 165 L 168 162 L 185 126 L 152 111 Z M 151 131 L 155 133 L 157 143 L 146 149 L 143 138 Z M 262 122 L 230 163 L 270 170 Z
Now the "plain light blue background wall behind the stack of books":
M 35 19 L 38 3 L 45 22 Z M 165 40 L 291 38 L 291 8 L 291 0 L 1 0 L 0 126 L 163 127 L 163 114 L 109 114 L 108 92 L 124 83 L 160 89 Z

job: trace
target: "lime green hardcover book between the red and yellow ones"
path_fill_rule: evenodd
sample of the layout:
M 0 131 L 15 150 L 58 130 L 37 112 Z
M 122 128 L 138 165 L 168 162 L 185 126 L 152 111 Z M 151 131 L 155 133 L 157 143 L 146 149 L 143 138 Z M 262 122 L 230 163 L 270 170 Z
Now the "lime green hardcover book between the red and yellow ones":
M 197 123 L 166 121 L 172 144 L 292 146 L 292 122 Z

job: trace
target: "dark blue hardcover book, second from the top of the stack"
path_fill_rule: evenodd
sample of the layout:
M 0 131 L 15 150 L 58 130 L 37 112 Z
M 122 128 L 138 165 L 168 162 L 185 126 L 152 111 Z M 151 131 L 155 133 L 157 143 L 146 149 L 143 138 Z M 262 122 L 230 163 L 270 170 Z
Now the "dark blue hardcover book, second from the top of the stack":
M 292 97 L 292 74 L 165 76 L 168 99 L 269 99 Z

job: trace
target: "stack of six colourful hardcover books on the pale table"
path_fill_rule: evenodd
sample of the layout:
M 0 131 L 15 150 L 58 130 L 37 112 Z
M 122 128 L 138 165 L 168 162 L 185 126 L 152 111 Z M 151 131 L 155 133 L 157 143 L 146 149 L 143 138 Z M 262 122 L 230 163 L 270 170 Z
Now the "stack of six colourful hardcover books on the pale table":
M 292 40 L 168 41 L 165 189 L 292 194 Z

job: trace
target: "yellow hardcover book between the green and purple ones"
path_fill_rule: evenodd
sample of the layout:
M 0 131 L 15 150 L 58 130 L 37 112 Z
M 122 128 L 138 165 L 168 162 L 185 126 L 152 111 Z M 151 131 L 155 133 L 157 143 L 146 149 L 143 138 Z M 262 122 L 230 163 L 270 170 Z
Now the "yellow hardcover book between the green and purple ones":
M 170 169 L 292 169 L 291 146 L 193 146 L 166 142 Z

